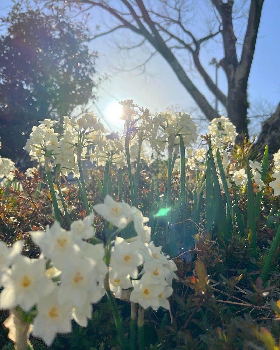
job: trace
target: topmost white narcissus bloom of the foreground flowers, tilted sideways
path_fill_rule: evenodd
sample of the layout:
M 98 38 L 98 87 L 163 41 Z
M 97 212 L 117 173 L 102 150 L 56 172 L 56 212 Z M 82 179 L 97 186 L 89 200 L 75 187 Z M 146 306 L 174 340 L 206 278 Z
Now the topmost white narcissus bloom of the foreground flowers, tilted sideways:
M 93 209 L 107 221 L 112 222 L 121 229 L 128 224 L 128 217 L 130 216 L 129 205 L 124 202 L 115 202 L 109 195 L 105 197 L 104 204 L 96 204 Z

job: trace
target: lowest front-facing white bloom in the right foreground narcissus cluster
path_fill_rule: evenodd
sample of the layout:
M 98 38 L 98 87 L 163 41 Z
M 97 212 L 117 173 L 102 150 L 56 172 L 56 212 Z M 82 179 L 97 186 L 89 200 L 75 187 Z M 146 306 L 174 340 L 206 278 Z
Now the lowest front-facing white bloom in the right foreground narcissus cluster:
M 150 283 L 149 281 L 132 280 L 133 290 L 130 301 L 140 304 L 144 309 L 152 306 L 159 308 L 159 294 L 163 292 L 165 285 Z

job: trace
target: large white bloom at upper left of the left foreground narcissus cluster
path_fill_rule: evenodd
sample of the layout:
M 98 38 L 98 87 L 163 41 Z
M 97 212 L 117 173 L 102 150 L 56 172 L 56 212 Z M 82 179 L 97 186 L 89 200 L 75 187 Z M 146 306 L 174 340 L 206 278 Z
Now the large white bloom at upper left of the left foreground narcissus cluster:
M 30 231 L 32 240 L 38 245 L 45 257 L 52 260 L 55 267 L 63 270 L 69 261 L 79 252 L 79 247 L 73 244 L 71 231 L 64 230 L 55 221 L 46 231 Z

